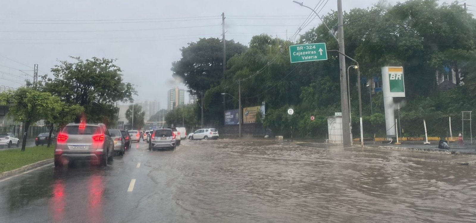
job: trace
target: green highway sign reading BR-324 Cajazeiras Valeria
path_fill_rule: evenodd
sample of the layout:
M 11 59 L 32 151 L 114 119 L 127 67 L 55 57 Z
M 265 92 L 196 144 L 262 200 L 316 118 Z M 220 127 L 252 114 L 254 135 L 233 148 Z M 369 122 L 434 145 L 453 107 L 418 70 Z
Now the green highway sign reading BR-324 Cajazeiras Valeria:
M 291 63 L 327 60 L 326 43 L 311 43 L 289 46 Z

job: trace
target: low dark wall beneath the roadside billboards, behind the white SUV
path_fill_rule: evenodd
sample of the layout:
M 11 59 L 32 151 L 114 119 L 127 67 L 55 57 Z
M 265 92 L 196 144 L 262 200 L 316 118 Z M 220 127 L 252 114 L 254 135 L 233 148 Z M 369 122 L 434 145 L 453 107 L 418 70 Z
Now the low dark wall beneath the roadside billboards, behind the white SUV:
M 238 125 L 225 125 L 220 126 L 217 129 L 218 133 L 220 134 L 220 138 L 238 137 Z M 241 135 L 243 137 L 264 137 L 265 135 L 269 135 L 269 137 L 274 137 L 274 134 L 270 130 L 266 130 L 265 134 L 265 128 L 263 127 L 263 124 L 257 123 L 242 124 Z

